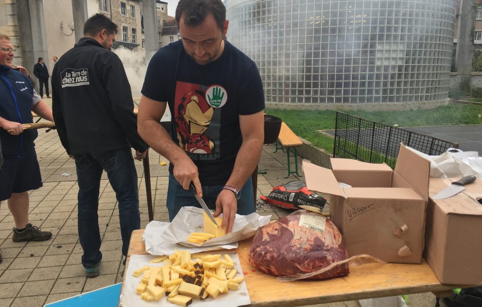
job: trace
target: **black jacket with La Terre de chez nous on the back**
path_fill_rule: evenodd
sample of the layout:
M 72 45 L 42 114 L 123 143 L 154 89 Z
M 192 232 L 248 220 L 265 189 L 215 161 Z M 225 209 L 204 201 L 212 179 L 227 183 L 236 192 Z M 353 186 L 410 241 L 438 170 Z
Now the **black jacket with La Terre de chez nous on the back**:
M 52 111 L 70 155 L 147 144 L 137 133 L 131 87 L 121 59 L 96 40 L 81 38 L 55 63 Z

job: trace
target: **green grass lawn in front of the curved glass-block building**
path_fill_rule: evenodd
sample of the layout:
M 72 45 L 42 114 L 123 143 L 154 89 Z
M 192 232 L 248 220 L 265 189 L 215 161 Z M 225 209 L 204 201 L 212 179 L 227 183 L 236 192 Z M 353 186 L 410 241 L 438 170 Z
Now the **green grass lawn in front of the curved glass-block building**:
M 344 111 L 345 112 L 345 111 Z M 266 114 L 281 118 L 293 130 L 318 148 L 333 153 L 333 139 L 318 130 L 335 128 L 335 111 L 305 111 L 266 108 Z M 453 126 L 482 124 L 482 106 L 449 104 L 431 110 L 346 111 L 364 119 L 398 127 Z

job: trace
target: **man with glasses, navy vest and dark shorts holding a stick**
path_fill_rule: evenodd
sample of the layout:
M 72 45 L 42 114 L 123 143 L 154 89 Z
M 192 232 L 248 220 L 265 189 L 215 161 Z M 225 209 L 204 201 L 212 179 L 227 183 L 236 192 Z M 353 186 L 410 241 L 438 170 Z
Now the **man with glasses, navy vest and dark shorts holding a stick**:
M 29 222 L 28 191 L 42 187 L 42 177 L 35 152 L 36 130 L 25 130 L 22 124 L 32 123 L 32 111 L 53 121 L 52 110 L 37 95 L 23 67 L 13 69 L 15 49 L 10 37 L 0 34 L 0 142 L 3 165 L 0 167 L 0 203 L 7 201 L 15 227 L 14 242 L 43 241 L 52 237 Z M 0 256 L 0 258 L 2 258 Z

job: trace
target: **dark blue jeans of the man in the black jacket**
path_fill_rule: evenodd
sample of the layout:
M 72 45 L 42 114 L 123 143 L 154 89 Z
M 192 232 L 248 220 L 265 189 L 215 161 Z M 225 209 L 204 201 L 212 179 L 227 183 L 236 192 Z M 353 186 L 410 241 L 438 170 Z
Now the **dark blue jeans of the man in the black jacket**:
M 107 172 L 117 198 L 124 256 L 127 256 L 132 231 L 140 229 L 137 172 L 130 148 L 83 153 L 74 158 L 78 183 L 78 238 L 84 250 L 82 265 L 92 268 L 102 259 L 97 214 L 102 171 Z

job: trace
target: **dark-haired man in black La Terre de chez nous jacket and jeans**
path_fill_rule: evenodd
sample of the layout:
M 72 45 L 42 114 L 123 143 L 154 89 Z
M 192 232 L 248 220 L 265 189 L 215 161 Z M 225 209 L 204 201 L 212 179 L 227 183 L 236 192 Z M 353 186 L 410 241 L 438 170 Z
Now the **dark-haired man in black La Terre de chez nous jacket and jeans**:
M 131 146 L 142 160 L 147 145 L 137 134 L 123 64 L 110 51 L 116 32 L 117 25 L 108 17 L 93 15 L 84 25 L 84 37 L 55 63 L 52 73 L 55 125 L 77 169 L 78 236 L 87 277 L 98 276 L 102 259 L 97 208 L 103 170 L 118 201 L 124 256 L 132 231 L 140 228 Z

